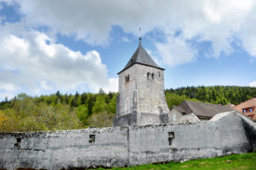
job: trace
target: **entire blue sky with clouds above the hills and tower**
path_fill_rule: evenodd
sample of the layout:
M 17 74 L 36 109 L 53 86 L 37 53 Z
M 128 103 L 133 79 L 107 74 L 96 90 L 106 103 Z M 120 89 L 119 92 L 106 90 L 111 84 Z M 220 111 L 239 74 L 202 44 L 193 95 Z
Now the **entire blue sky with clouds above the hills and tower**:
M 140 36 L 166 88 L 256 86 L 256 1 L 0 0 L 0 100 L 117 91 Z

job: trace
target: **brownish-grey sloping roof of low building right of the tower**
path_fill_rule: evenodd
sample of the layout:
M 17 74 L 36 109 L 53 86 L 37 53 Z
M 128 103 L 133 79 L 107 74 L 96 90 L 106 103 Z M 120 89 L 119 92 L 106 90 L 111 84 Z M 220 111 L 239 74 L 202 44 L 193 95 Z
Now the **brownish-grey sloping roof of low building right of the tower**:
M 235 111 L 234 109 L 217 104 L 201 103 L 195 101 L 184 100 L 179 105 L 184 113 L 194 113 L 196 116 L 213 117 L 218 113 L 226 111 Z M 178 110 L 179 111 L 179 110 Z

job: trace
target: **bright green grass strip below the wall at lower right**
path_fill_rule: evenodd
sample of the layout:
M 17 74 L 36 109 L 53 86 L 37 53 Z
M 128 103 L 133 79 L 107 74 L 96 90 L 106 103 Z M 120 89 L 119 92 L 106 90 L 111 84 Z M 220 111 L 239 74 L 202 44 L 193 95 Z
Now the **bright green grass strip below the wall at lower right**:
M 103 168 L 100 168 L 103 169 Z M 184 163 L 157 163 L 145 164 L 141 166 L 132 166 L 125 168 L 112 168 L 122 170 L 139 170 L 139 169 L 206 169 L 206 170 L 228 170 L 228 169 L 249 169 L 256 170 L 256 152 L 247 154 L 237 154 L 218 158 L 200 159 Z

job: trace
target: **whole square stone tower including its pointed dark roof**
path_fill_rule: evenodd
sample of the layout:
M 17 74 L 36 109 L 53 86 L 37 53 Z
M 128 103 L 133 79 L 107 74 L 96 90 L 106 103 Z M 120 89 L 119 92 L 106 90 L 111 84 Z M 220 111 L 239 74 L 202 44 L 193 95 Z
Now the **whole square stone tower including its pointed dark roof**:
M 167 124 L 169 110 L 164 92 L 164 69 L 140 44 L 119 75 L 114 126 Z

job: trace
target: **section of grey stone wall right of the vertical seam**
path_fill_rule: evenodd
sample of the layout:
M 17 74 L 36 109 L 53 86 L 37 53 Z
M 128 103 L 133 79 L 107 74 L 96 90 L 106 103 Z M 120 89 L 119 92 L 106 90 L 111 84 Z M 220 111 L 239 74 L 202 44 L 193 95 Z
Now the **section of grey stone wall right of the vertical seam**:
M 168 133 L 173 133 L 171 141 Z M 132 126 L 129 138 L 131 165 L 216 157 L 252 149 L 236 114 L 217 122 Z

